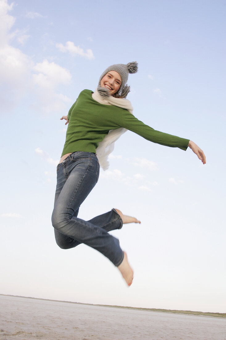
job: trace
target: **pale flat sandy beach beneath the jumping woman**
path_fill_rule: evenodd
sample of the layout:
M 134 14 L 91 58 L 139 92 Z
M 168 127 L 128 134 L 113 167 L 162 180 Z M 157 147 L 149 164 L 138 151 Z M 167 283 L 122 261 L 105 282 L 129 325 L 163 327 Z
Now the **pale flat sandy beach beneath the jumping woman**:
M 226 319 L 0 295 L 0 339 L 226 340 Z

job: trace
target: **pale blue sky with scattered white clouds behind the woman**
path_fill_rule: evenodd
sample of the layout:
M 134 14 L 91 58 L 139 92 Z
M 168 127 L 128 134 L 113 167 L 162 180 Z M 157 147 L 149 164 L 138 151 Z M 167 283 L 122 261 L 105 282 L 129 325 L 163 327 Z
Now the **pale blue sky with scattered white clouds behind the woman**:
M 144 308 L 226 312 L 225 1 L 0 0 L 0 293 Z M 134 115 L 193 140 L 128 131 L 80 207 L 141 220 L 112 232 L 134 280 L 86 245 L 58 248 L 51 215 L 67 115 L 112 64 L 129 75 Z

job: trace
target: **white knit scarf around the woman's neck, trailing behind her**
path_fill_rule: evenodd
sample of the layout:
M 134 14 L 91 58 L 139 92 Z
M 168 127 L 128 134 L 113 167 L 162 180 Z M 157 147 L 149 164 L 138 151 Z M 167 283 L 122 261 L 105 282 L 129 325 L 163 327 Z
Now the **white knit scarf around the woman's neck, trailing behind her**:
M 97 89 L 92 94 L 92 98 L 100 104 L 115 105 L 118 107 L 123 107 L 127 109 L 131 114 L 133 114 L 133 107 L 128 99 L 115 98 L 112 96 L 103 98 L 97 92 Z M 114 150 L 114 143 L 126 131 L 127 129 L 124 129 L 124 128 L 110 130 L 109 133 L 102 140 L 102 142 L 99 142 L 99 146 L 96 149 L 96 155 L 97 155 L 100 167 L 103 168 L 103 170 L 107 170 L 109 167 L 108 156 Z

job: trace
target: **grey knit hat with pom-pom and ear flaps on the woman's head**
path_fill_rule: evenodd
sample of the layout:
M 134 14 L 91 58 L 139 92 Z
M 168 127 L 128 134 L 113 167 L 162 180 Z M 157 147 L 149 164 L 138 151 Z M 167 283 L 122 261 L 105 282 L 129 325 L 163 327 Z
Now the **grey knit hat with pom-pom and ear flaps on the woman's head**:
M 120 74 L 121 77 L 121 86 L 117 92 L 117 94 L 121 98 L 126 98 L 130 91 L 130 86 L 126 84 L 128 80 L 128 75 L 129 73 L 136 73 L 138 70 L 138 64 L 137 62 L 131 62 L 128 64 L 115 64 L 109 66 L 100 76 L 97 91 L 99 94 L 103 97 L 108 97 L 109 96 L 109 91 L 105 87 L 100 86 L 101 79 L 107 74 L 109 71 L 116 71 Z

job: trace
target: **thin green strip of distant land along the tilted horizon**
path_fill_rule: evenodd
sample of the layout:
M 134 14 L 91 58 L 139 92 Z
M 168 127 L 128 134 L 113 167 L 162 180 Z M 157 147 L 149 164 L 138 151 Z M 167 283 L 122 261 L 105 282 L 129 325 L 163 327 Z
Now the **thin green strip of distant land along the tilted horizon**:
M 145 310 L 145 311 L 153 311 L 153 312 L 187 314 L 187 315 L 202 315 L 202 316 L 215 317 L 215 318 L 226 318 L 226 313 L 199 312 L 199 311 L 192 311 L 192 310 L 176 310 L 176 309 L 128 307 L 128 306 L 116 306 L 116 305 L 99 305 L 99 304 L 92 304 L 92 303 L 42 299 L 42 298 L 39 298 L 39 297 L 31 297 L 31 296 L 20 296 L 20 295 L 10 295 L 10 294 L 0 294 L 0 295 L 2 295 L 2 296 L 13 296 L 13 297 L 25 297 L 26 299 L 54 301 L 54 302 L 65 302 L 65 303 L 74 303 L 74 304 L 79 304 L 79 305 L 89 305 L 89 306 L 98 306 L 98 307 L 116 307 L 116 308 L 127 308 L 127 309 Z

